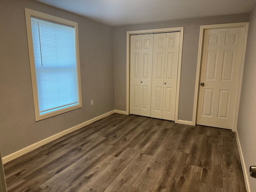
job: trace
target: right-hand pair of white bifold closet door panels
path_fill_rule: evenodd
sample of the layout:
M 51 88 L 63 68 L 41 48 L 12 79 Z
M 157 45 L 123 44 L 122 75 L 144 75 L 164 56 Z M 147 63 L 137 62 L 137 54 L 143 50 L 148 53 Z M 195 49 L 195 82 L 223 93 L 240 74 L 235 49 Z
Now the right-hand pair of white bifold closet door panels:
M 154 34 L 151 117 L 175 120 L 180 32 Z

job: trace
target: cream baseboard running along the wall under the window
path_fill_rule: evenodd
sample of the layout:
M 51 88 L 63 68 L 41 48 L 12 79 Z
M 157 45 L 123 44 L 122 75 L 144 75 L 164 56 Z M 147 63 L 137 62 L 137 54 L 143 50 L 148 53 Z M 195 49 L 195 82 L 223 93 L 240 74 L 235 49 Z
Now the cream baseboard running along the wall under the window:
M 20 150 L 12 153 L 10 155 L 7 155 L 7 156 L 3 157 L 2 158 L 2 162 L 3 162 L 3 164 L 5 164 L 5 163 L 7 163 L 7 162 L 9 162 L 11 160 L 14 160 L 14 159 L 18 158 L 19 156 L 22 156 L 22 155 L 24 155 L 24 154 L 26 154 L 26 153 L 28 153 L 28 152 L 30 152 L 30 151 L 40 147 L 40 146 L 43 146 L 43 145 L 45 145 L 45 144 L 47 144 L 47 143 L 49 143 L 49 142 L 51 142 L 53 140 L 56 140 L 56 139 L 66 135 L 66 134 L 69 134 L 69 133 L 71 133 L 73 131 L 76 131 L 76 130 L 78 130 L 78 129 L 86 126 L 86 125 L 89 125 L 89 124 L 91 124 L 91 123 L 93 123 L 95 121 L 98 121 L 98 120 L 100 120 L 100 119 L 102 119 L 102 118 L 104 118 L 106 116 L 109 116 L 109 115 L 111 115 L 113 113 L 115 113 L 115 110 L 112 110 L 110 112 L 102 114 L 102 115 L 100 115 L 98 117 L 95 117 L 95 118 L 90 119 L 90 120 L 88 120 L 86 122 L 78 124 L 78 125 L 76 125 L 76 126 L 74 126 L 72 128 L 66 129 L 66 130 L 64 130 L 62 132 L 59 132 L 59 133 L 57 133 L 55 135 L 52 135 L 52 136 L 50 136 L 48 138 L 45 138 L 45 139 L 43 139 L 41 141 L 38 141 L 38 142 L 36 142 L 36 143 L 34 143 L 34 144 L 30 145 L 30 146 L 27 146 L 27 147 L 25 147 L 23 149 L 20 149 Z

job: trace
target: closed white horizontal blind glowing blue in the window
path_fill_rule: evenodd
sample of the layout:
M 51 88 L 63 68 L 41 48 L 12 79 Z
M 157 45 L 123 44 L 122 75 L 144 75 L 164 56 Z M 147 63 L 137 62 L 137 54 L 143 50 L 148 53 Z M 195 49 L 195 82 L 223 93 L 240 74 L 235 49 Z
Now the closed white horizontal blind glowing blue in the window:
M 31 18 L 39 114 L 79 104 L 75 29 Z

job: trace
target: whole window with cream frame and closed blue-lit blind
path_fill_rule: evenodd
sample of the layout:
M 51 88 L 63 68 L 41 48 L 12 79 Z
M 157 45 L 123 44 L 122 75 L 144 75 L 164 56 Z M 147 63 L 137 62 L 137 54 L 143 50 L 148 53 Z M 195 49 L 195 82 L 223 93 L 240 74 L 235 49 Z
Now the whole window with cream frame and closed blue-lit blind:
M 82 107 L 78 24 L 25 8 L 36 121 Z

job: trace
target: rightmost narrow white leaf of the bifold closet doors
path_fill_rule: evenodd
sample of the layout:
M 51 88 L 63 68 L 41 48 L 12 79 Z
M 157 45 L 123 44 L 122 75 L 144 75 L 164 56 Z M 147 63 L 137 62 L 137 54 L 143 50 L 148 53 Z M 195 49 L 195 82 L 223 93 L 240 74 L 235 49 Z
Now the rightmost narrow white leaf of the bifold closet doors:
M 166 34 L 166 54 L 164 65 L 163 119 L 175 119 L 176 88 L 180 49 L 180 32 Z

